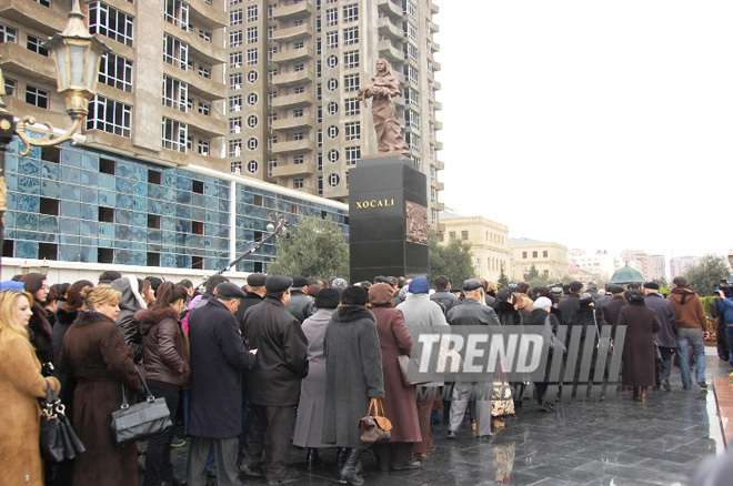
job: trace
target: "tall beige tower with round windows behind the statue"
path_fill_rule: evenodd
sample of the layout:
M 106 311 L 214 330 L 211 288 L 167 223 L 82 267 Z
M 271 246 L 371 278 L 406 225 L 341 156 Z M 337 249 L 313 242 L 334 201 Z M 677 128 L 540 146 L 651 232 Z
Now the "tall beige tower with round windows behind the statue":
M 349 169 L 378 152 L 371 110 L 357 92 L 384 58 L 402 85 L 394 102 L 435 224 L 443 163 L 433 1 L 228 0 L 227 8 L 232 172 L 345 202 Z

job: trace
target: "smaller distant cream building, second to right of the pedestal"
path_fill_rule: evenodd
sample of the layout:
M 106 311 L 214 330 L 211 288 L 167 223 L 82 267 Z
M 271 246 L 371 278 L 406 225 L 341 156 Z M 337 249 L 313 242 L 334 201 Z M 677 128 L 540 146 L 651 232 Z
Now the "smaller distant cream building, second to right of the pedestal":
M 524 280 L 532 265 L 540 275 L 551 280 L 560 280 L 569 273 L 568 247 L 560 243 L 512 239 L 509 246 L 512 253 L 512 269 L 508 276 L 514 282 Z

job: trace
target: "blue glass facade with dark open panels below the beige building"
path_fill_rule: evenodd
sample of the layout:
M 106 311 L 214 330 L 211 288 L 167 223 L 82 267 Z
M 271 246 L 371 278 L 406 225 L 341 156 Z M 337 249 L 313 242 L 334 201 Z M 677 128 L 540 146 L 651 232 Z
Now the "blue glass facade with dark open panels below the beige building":
M 14 140 L 6 159 L 3 256 L 219 270 L 261 237 L 275 214 L 290 223 L 328 215 L 349 231 L 348 210 L 277 186 L 68 143 L 33 148 L 27 156 L 20 148 Z M 274 254 L 274 244 L 262 245 L 237 270 L 263 271 Z

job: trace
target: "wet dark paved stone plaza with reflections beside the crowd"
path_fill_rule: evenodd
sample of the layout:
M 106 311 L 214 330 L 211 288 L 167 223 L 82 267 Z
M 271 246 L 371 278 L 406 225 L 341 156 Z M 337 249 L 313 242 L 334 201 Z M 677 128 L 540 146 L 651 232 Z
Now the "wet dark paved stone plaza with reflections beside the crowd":
M 365 484 L 689 485 L 702 457 L 724 448 L 712 378 L 727 375 L 729 365 L 713 347 L 706 352 L 707 392 L 696 384 L 682 389 L 673 367 L 672 392 L 650 391 L 646 404 L 632 402 L 629 391 L 604 402 L 558 403 L 554 414 L 529 404 L 492 441 L 473 438 L 468 422 L 458 441 L 448 441 L 445 424 L 434 424 L 436 450 L 421 469 L 379 473 L 365 454 Z M 185 477 L 185 454 L 187 447 L 173 452 L 179 478 Z M 289 467 L 301 477 L 291 484 L 334 484 L 335 449 L 322 458 L 323 467 L 309 469 L 304 450 L 293 449 Z M 245 485 L 264 484 L 241 477 Z

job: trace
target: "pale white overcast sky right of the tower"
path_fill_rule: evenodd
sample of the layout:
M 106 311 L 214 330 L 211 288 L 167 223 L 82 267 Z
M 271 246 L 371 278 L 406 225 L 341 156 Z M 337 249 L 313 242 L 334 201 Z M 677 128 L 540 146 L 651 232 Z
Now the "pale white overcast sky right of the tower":
M 510 237 L 733 246 L 733 1 L 435 0 L 441 200 Z

